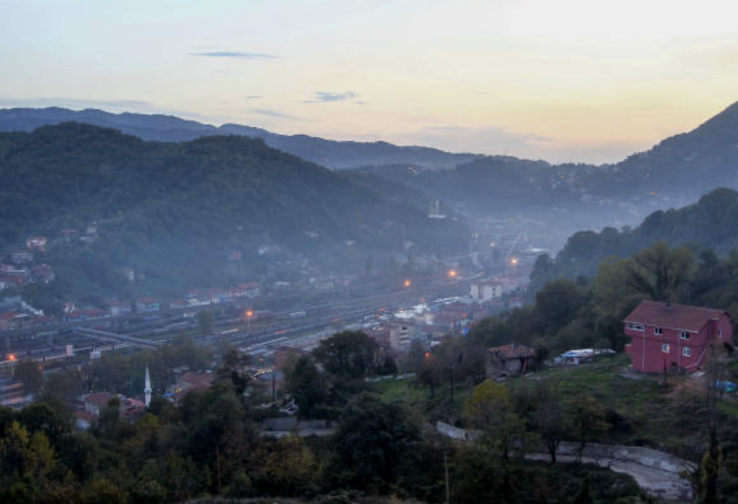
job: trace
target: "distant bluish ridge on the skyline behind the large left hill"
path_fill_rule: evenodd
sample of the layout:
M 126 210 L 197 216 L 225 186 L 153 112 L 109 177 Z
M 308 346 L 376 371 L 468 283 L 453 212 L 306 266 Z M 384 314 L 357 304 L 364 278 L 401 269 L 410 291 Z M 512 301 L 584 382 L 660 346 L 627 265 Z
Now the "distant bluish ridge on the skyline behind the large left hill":
M 333 141 L 307 135 L 280 135 L 258 127 L 216 127 L 162 114 L 110 113 L 96 109 L 9 108 L 0 110 L 0 131 L 32 131 L 61 122 L 84 122 L 111 127 L 144 140 L 190 141 L 201 136 L 239 135 L 263 139 L 269 147 L 283 150 L 324 167 L 342 169 L 381 164 L 420 164 L 424 167 L 454 167 L 477 157 L 453 154 L 430 147 L 401 147 L 384 141 Z

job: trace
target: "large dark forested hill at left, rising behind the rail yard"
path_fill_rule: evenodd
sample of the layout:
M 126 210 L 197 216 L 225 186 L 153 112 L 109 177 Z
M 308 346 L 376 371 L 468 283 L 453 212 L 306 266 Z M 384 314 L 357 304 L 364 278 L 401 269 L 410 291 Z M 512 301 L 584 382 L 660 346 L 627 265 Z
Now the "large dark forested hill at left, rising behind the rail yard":
M 89 284 L 134 267 L 171 287 L 208 285 L 233 256 L 235 271 L 267 258 L 349 267 L 408 247 L 463 249 L 468 236 L 461 221 L 429 220 L 425 208 L 239 136 L 166 143 L 76 123 L 0 133 L 0 180 L 0 251 L 96 223 L 87 262 L 57 257 L 73 263 L 67 278 Z

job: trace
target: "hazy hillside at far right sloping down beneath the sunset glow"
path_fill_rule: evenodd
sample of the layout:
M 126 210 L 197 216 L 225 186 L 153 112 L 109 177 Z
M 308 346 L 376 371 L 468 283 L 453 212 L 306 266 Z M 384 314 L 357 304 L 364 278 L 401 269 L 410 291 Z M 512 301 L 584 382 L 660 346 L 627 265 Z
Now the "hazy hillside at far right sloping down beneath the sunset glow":
M 738 104 L 689 133 L 617 164 L 548 164 L 484 156 L 452 169 L 367 168 L 463 205 L 469 214 L 531 217 L 563 231 L 636 225 L 658 209 L 684 206 L 718 187 L 738 189 Z

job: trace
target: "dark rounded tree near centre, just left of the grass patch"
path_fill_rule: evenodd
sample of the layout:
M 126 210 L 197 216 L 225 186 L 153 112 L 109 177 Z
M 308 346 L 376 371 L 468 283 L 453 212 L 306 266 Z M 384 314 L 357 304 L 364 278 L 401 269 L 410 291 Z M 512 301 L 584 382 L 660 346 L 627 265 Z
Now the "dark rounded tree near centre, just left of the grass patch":
M 320 342 L 313 352 L 331 374 L 348 379 L 373 375 L 379 345 L 361 331 L 343 331 Z

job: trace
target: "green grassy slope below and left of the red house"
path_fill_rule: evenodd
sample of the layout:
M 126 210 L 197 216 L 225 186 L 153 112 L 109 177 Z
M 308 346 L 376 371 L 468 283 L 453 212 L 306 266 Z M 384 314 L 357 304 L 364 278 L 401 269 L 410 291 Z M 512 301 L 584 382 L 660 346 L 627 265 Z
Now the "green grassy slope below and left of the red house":
M 626 355 L 603 357 L 593 363 L 551 368 L 503 383 L 517 393 L 545 385 L 563 403 L 579 393 L 594 396 L 606 408 L 613 425 L 603 442 L 664 449 L 691 459 L 700 457 L 706 444 L 704 379 L 673 376 L 664 386 L 660 375 L 630 374 L 629 364 Z M 463 402 L 472 391 L 469 385 L 458 386 L 451 401 L 448 382 L 436 390 L 433 398 L 413 379 L 388 379 L 375 387 L 387 401 L 404 402 L 430 421 L 452 424 L 462 420 Z M 725 399 L 721 409 L 725 413 L 723 429 L 738 430 L 738 401 Z

